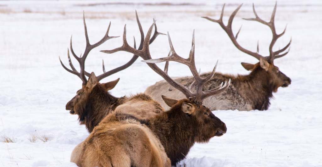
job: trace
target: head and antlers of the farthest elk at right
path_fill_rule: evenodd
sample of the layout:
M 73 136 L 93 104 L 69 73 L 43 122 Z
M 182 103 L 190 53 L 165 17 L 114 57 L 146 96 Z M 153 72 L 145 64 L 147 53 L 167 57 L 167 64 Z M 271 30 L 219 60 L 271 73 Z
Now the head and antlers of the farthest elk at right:
M 272 85 L 274 92 L 276 92 L 279 87 L 289 86 L 289 84 L 291 84 L 291 79 L 289 77 L 287 77 L 284 73 L 282 73 L 277 66 L 274 65 L 275 59 L 283 57 L 287 53 L 289 53 L 289 50 L 284 53 L 282 53 L 282 52 L 285 51 L 287 48 L 290 48 L 289 46 L 292 41 L 292 40 L 290 40 L 289 43 L 284 48 L 279 49 L 278 51 L 273 51 L 273 46 L 274 46 L 275 42 L 277 41 L 277 39 L 279 39 L 279 37 L 284 35 L 284 33 L 286 31 L 286 27 L 285 27 L 284 31 L 280 34 L 277 34 L 276 30 L 275 30 L 275 13 L 276 13 L 277 3 L 274 6 L 273 13 L 270 18 L 270 22 L 266 22 L 266 21 L 262 20 L 257 15 L 257 13 L 255 11 L 254 4 L 253 4 L 253 12 L 254 12 L 255 18 L 246 18 L 246 19 L 244 18 L 244 20 L 260 22 L 264 25 L 267 25 L 270 28 L 273 36 L 272 36 L 272 40 L 271 40 L 270 46 L 269 46 L 269 51 L 270 51 L 269 56 L 262 56 L 259 54 L 258 42 L 257 42 L 257 51 L 256 52 L 246 50 L 245 48 L 243 48 L 242 46 L 240 46 L 238 44 L 237 37 L 238 37 L 238 34 L 239 34 L 242 27 L 240 27 L 240 29 L 238 30 L 238 32 L 234 36 L 234 34 L 232 32 L 232 21 L 233 21 L 235 15 L 237 14 L 237 12 L 239 11 L 239 9 L 242 7 L 242 5 L 239 5 L 237 7 L 237 9 L 235 9 L 235 11 L 230 15 L 227 25 L 224 25 L 224 23 L 223 23 L 224 7 L 225 7 L 225 4 L 223 5 L 223 9 L 222 9 L 219 20 L 215 20 L 215 19 L 212 19 L 209 17 L 203 17 L 203 18 L 210 20 L 212 22 L 218 23 L 223 28 L 223 30 L 227 33 L 227 35 L 232 40 L 232 43 L 237 47 L 237 49 L 239 49 L 240 51 L 242 51 L 246 54 L 249 54 L 259 60 L 259 62 L 256 64 L 242 62 L 242 66 L 246 70 L 260 72 L 262 77 L 267 77 L 270 82 L 269 84 Z

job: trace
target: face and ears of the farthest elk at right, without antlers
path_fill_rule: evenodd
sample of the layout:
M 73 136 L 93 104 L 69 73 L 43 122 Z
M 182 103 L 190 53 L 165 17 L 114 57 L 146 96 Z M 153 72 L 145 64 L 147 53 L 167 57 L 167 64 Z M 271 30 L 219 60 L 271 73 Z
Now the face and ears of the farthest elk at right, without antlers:
M 258 63 L 242 63 L 242 66 L 246 70 L 254 70 L 258 66 Z M 273 85 L 274 92 L 277 92 L 277 89 L 279 87 L 285 88 L 291 84 L 291 79 L 288 76 L 286 76 L 283 72 L 281 72 L 279 68 L 275 66 L 273 63 L 269 63 L 265 59 L 260 59 L 259 66 L 260 67 L 258 68 L 261 68 L 267 72 L 270 84 Z

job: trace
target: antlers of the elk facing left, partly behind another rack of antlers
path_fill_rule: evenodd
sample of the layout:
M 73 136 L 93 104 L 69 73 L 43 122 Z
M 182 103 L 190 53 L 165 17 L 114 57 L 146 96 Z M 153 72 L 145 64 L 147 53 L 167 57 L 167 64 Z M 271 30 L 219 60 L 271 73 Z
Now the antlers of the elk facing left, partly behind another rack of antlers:
M 68 72 L 71 72 L 72 74 L 75 74 L 75 75 L 77 75 L 79 78 L 81 78 L 81 80 L 83 81 L 83 85 L 85 85 L 86 84 L 86 82 L 87 82 L 87 80 L 86 80 L 86 78 L 85 78 L 85 75 L 87 76 L 87 77 L 89 77 L 90 76 L 90 73 L 89 72 L 87 72 L 87 71 L 85 71 L 85 59 L 86 59 L 86 57 L 87 57 L 87 55 L 88 55 L 88 53 L 93 49 L 93 48 L 95 48 L 95 47 L 97 47 L 97 46 L 99 46 L 100 44 L 102 44 L 102 43 L 104 43 L 105 41 L 107 41 L 107 40 L 109 40 L 109 39 L 111 39 L 111 38 L 117 38 L 117 37 L 119 37 L 119 36 L 115 36 L 115 37 L 109 37 L 109 28 L 110 28 L 110 25 L 111 25 L 111 22 L 109 22 L 109 27 L 108 27 L 108 29 L 107 29 L 107 32 L 106 32 L 106 34 L 104 35 L 104 37 L 99 41 L 99 42 L 97 42 L 97 43 L 95 43 L 95 44 L 93 44 L 93 45 L 90 45 L 90 43 L 89 43 L 89 38 L 88 38 L 88 35 L 87 35 L 87 28 L 86 28 L 86 23 L 85 23 L 85 15 L 83 14 L 83 20 L 84 20 L 84 27 L 85 27 L 85 38 L 86 38 L 86 48 L 85 48 L 85 52 L 84 52 L 84 55 L 83 55 L 83 57 L 78 57 L 78 56 L 76 56 L 76 54 L 74 53 L 74 51 L 73 51 L 73 49 L 72 49 L 72 42 L 71 42 L 71 53 L 73 54 L 73 56 L 76 58 L 76 60 L 79 62 L 79 64 L 80 64 L 80 67 L 81 67 L 81 72 L 78 72 L 76 69 L 75 69 L 75 67 L 73 66 L 73 64 L 72 64 L 72 62 L 71 62 L 71 58 L 70 58 L 70 55 L 69 55 L 69 50 L 67 51 L 67 56 L 68 56 L 68 61 L 69 61 L 69 65 L 71 66 L 71 69 L 72 70 L 70 70 L 70 69 L 68 69 L 63 63 L 62 63 L 62 61 L 60 60 L 60 58 L 59 58 L 59 60 L 60 60 L 60 62 L 61 62 L 61 64 L 62 64 L 62 66 L 63 66 L 63 68 L 65 69 L 65 70 L 67 70 Z M 155 25 L 155 29 L 156 29 L 156 25 Z M 159 34 L 162 34 L 162 33 L 160 33 L 160 32 L 157 32 L 157 31 L 155 31 L 155 33 L 154 33 L 154 35 L 153 35 L 153 37 L 151 38 L 151 40 L 150 40 L 150 43 L 152 43 L 155 39 L 156 39 L 156 37 L 159 35 Z M 143 40 L 141 40 L 141 43 L 140 43 L 140 46 L 139 46 L 139 50 L 142 48 L 142 46 L 143 46 Z M 135 43 L 135 39 L 134 39 L 134 48 L 136 48 L 136 43 Z M 112 69 L 112 70 L 109 70 L 109 71 L 105 71 L 105 66 L 104 66 L 104 61 L 103 61 L 103 63 L 102 63 L 102 68 L 103 68 L 103 74 L 101 74 L 101 75 L 99 75 L 99 76 L 97 76 L 97 80 L 98 81 L 100 81 L 101 79 L 103 79 L 103 78 L 106 78 L 106 77 L 108 77 L 108 76 L 110 76 L 110 75 L 112 75 L 112 74 L 115 74 L 115 73 L 117 73 L 118 71 L 121 71 L 121 70 L 124 70 L 124 69 L 126 69 L 126 68 L 128 68 L 129 66 L 131 66 L 136 60 L 137 60 L 137 58 L 138 58 L 138 56 L 137 55 L 133 55 L 133 57 L 131 58 L 131 60 L 129 60 L 127 63 L 125 63 L 124 65 L 122 65 L 122 66 L 120 66 L 120 67 L 117 67 L 117 68 L 115 68 L 115 69 Z

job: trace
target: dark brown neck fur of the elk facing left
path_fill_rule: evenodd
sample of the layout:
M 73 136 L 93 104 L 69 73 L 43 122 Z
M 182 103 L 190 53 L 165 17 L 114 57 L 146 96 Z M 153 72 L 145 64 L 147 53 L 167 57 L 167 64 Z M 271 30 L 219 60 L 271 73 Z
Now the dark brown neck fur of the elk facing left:
M 89 132 L 116 107 L 122 104 L 125 97 L 114 97 L 97 85 L 93 88 L 85 105 L 84 114 L 79 116 L 81 124 L 85 124 Z

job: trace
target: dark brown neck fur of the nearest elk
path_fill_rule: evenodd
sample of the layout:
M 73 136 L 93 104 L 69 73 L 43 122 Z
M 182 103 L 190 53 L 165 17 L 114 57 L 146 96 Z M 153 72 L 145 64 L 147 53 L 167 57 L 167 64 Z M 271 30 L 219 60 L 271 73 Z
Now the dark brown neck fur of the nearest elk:
M 181 111 L 181 105 L 176 105 L 145 123 L 164 146 L 172 165 L 184 159 L 194 145 L 198 135 L 194 121 Z

